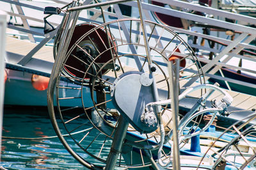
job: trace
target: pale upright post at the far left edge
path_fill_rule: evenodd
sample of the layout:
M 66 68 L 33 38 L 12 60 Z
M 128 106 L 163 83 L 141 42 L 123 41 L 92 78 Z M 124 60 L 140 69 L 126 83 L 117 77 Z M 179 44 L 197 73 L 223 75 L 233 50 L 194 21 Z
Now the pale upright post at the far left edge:
M 4 106 L 4 59 L 5 59 L 5 32 L 6 32 L 6 13 L 0 11 L 0 148 L 2 141 L 3 106 Z M 1 152 L 0 152 L 1 154 Z M 0 155 L 1 157 L 1 155 Z

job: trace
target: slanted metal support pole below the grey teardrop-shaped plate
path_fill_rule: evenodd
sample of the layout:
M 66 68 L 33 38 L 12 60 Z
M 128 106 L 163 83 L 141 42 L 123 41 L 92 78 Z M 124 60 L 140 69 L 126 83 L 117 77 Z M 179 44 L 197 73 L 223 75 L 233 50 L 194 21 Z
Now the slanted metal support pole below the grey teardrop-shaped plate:
M 116 127 L 115 136 L 113 138 L 112 146 L 108 155 L 106 170 L 115 169 L 116 160 L 118 159 L 118 155 L 122 151 L 122 146 L 124 143 L 126 131 L 128 128 L 129 122 L 125 120 L 122 115 L 119 117 L 118 125 Z

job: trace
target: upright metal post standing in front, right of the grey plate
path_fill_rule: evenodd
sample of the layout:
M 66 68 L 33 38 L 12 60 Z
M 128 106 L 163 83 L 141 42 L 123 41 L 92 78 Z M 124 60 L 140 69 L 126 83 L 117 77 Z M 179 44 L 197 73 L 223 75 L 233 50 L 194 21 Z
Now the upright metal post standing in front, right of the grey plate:
M 179 59 L 175 60 L 175 72 L 173 76 L 173 63 L 168 62 L 169 80 L 170 80 L 170 96 L 172 97 L 172 120 L 173 120 L 173 169 L 180 170 L 180 151 L 178 139 L 178 113 L 179 113 Z

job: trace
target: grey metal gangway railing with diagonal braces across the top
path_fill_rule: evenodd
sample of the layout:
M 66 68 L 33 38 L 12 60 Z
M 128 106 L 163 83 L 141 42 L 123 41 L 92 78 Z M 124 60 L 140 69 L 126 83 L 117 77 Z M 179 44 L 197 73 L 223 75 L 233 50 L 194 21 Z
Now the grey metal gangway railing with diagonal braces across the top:
M 199 57 L 199 60 L 202 62 L 205 62 L 205 66 L 203 67 L 203 71 L 207 74 L 207 79 L 209 78 L 216 78 L 219 80 L 225 80 L 227 82 L 232 82 L 232 83 L 238 83 L 238 84 L 242 84 L 248 87 L 252 87 L 252 88 L 256 88 L 255 84 L 249 83 L 249 82 L 243 82 L 243 81 L 239 81 L 239 80 L 233 80 L 232 78 L 225 78 L 225 77 L 221 77 L 221 76 L 216 76 L 214 75 L 217 71 L 220 71 L 220 69 L 222 67 L 226 67 L 228 69 L 233 69 L 233 70 L 239 70 L 239 71 L 243 71 L 249 74 L 255 74 L 256 75 L 256 69 L 250 68 L 250 67 L 241 67 L 238 65 L 231 65 L 228 64 L 228 62 L 230 62 L 230 60 L 234 59 L 234 58 L 238 58 L 238 59 L 243 59 L 243 60 L 250 60 L 251 62 L 256 62 L 256 56 L 255 53 L 253 53 L 253 51 L 256 50 L 256 46 L 255 45 L 250 45 L 250 43 L 255 39 L 256 37 L 256 29 L 253 27 L 249 27 L 246 25 L 242 25 L 239 23 L 248 23 L 248 25 L 255 25 L 256 24 L 256 18 L 253 17 L 248 17 L 245 15 L 239 15 L 237 13 L 231 13 L 228 11 L 222 11 L 222 10 L 218 10 L 218 9 L 214 9 L 211 7 L 207 7 L 207 6 L 200 6 L 200 5 L 196 5 L 196 4 L 191 4 L 191 3 L 186 3 L 184 1 L 177 1 L 177 0 L 156 0 L 157 2 L 160 3 L 165 3 L 165 4 L 169 4 L 170 6 L 177 6 L 179 8 L 186 8 L 189 10 L 195 10 L 195 11 L 200 11 L 201 13 L 207 13 L 207 15 L 214 15 L 214 18 L 210 18 L 210 17 L 205 17 L 205 16 L 201 16 L 201 15 L 195 15 L 193 13 L 189 13 L 189 12 L 185 12 L 182 10 L 174 10 L 172 8 L 163 8 L 161 6 L 156 6 L 153 4 L 149 4 L 149 3 L 142 3 L 142 8 L 144 11 L 144 15 L 145 15 L 145 19 L 146 20 L 151 20 L 152 12 L 158 12 L 158 13 L 163 13 L 165 15 L 170 15 L 173 17 L 179 17 L 179 18 L 183 18 L 185 20 L 190 20 L 193 23 L 200 23 L 201 25 L 204 25 L 205 27 L 217 27 L 220 29 L 224 29 L 224 30 L 231 30 L 233 32 L 237 32 L 235 35 L 235 38 L 230 40 L 230 39 L 225 39 L 223 37 L 220 37 L 217 35 L 208 35 L 208 34 L 204 34 L 204 32 L 195 32 L 189 29 L 180 29 L 177 27 L 172 27 L 169 26 L 170 29 L 172 29 L 173 31 L 176 32 L 180 32 L 182 34 L 186 34 L 188 36 L 193 36 L 196 38 L 200 38 L 200 39 L 206 39 L 206 41 L 211 41 L 211 42 L 216 42 L 219 45 L 215 47 L 215 48 L 211 48 L 211 46 L 209 45 L 198 45 L 198 44 L 194 44 L 192 42 L 188 42 L 188 44 L 199 50 L 199 52 L 203 51 L 203 52 L 207 52 L 207 54 L 209 53 L 214 53 L 215 57 L 212 60 L 206 59 L 204 57 Z M 20 1 L 10 1 L 10 0 L 0 0 L 0 2 L 2 3 L 10 3 L 13 4 L 15 6 L 17 6 L 18 9 L 18 13 L 14 13 L 12 11 L 6 11 L 8 13 L 8 15 L 13 16 L 13 17 L 20 17 L 22 19 L 22 23 L 24 25 L 24 27 L 20 28 L 17 27 L 15 25 L 8 25 L 7 27 L 10 29 L 15 29 L 18 31 L 22 31 L 25 32 L 26 34 L 29 35 L 29 39 L 31 41 L 33 41 L 33 36 L 35 35 L 40 35 L 43 36 L 43 34 L 41 32 L 36 32 L 36 31 L 31 31 L 30 26 L 26 25 L 26 23 L 28 23 L 28 20 L 33 20 L 35 22 L 44 22 L 43 18 L 35 18 L 32 16 L 25 16 L 24 13 L 22 13 L 22 8 L 30 8 L 33 10 L 38 10 L 38 11 L 44 11 L 44 8 L 38 7 L 38 6 L 33 6 L 30 4 L 26 4 L 26 3 L 21 3 Z M 54 1 L 56 3 L 60 3 L 61 5 L 65 5 L 67 3 L 63 2 L 63 1 Z M 84 1 L 84 4 L 90 4 L 92 3 L 92 0 L 86 0 Z M 130 1 L 127 3 L 124 3 L 127 6 L 132 6 L 132 8 L 137 8 L 137 3 L 136 1 Z M 108 11 L 107 9 L 111 7 L 113 8 L 113 10 L 115 10 L 115 13 Z M 130 18 L 129 16 L 124 16 L 122 15 L 122 11 L 120 10 L 120 7 L 118 5 L 113 5 L 113 6 L 104 6 L 103 8 L 104 10 L 104 15 L 106 16 L 110 16 L 110 17 L 116 17 L 118 19 L 122 19 L 122 18 Z M 101 11 L 97 8 L 91 8 L 88 9 L 88 13 L 92 12 L 93 14 L 87 18 L 84 17 L 79 17 L 80 22 L 97 22 L 99 24 L 102 23 L 102 19 L 99 18 L 101 16 Z M 225 20 L 223 19 L 223 17 L 225 18 L 229 18 L 232 20 L 236 20 L 236 23 L 230 23 L 230 22 L 225 22 Z M 221 19 L 219 19 L 221 18 Z M 111 19 L 109 19 L 111 20 Z M 60 23 L 55 22 L 55 21 L 51 21 L 50 22 L 52 25 L 58 25 Z M 129 28 L 127 28 L 129 29 Z M 38 52 L 38 50 L 44 46 L 48 41 L 50 41 L 52 38 L 54 38 L 56 32 L 58 30 L 58 27 L 56 29 L 56 31 L 51 32 L 50 37 L 49 38 L 44 38 L 40 44 L 38 44 L 33 50 L 31 50 L 31 52 L 29 52 L 26 56 L 24 56 L 21 60 L 19 60 L 19 62 L 17 62 L 17 64 L 20 65 L 25 65 L 27 62 L 29 62 L 29 60 L 31 59 L 31 57 L 33 57 L 33 55 Z M 136 31 L 136 30 L 135 30 Z M 159 34 L 159 33 L 156 33 Z M 199 39 L 199 40 L 200 40 Z M 222 46 L 220 48 L 220 46 Z M 251 52 L 248 53 L 247 55 L 241 55 L 241 52 L 243 52 L 243 50 L 250 50 Z M 221 60 L 221 62 L 220 62 Z M 213 67 L 213 69 L 212 69 Z M 210 71 L 211 69 L 211 71 Z M 188 87 L 189 85 L 191 85 L 193 82 L 196 81 L 196 78 L 191 78 L 191 80 L 188 81 L 188 83 L 186 83 L 185 87 Z

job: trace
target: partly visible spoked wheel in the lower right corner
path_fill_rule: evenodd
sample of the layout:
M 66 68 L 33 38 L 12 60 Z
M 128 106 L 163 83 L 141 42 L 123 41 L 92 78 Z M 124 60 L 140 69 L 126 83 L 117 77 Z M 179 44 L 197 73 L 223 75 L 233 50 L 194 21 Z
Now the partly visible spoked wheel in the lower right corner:
M 252 111 L 251 115 L 228 128 L 218 127 L 222 132 L 211 136 L 211 145 L 205 146 L 202 160 L 213 157 L 212 169 L 255 169 L 255 118 L 256 113 Z

